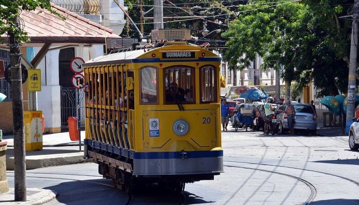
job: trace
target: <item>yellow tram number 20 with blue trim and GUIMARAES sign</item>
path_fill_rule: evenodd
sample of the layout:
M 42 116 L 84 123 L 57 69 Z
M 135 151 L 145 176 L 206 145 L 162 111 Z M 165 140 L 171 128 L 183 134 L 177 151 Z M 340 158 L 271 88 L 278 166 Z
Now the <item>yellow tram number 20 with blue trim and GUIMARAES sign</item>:
M 186 42 L 118 50 L 84 64 L 85 156 L 129 191 L 145 180 L 183 190 L 223 172 L 221 57 Z

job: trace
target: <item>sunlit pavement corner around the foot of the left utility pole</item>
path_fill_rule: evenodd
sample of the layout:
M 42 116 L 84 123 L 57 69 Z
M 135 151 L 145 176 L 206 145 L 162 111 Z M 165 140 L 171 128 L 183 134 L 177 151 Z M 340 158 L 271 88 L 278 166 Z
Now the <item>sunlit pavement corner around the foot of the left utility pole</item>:
M 57 192 L 48 189 L 27 188 L 26 191 L 38 193 L 27 195 L 26 201 L 11 201 L 14 200 L 14 189 L 10 189 L 9 192 L 0 195 L 0 203 L 4 205 L 39 205 L 47 203 L 57 196 Z M 2 200 L 6 200 L 7 202 L 2 202 Z

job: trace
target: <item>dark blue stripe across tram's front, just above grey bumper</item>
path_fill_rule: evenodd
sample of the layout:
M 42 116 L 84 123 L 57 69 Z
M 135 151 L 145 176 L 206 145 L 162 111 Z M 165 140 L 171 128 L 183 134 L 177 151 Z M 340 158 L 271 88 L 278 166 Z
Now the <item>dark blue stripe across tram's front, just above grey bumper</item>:
M 208 158 L 223 157 L 223 150 L 219 151 L 191 151 L 187 153 L 185 158 Z M 183 152 L 135 152 L 134 159 L 173 159 L 183 158 Z

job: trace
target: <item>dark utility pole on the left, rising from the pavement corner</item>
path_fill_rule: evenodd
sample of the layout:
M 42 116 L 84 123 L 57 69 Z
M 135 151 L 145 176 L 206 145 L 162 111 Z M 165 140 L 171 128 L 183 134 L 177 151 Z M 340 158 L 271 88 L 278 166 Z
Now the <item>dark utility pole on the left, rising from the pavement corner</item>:
M 14 22 L 16 27 L 20 29 L 18 17 L 14 17 Z M 26 163 L 21 53 L 19 49 L 20 46 L 15 39 L 14 33 L 8 32 L 8 34 L 10 37 L 12 116 L 14 127 L 15 201 L 26 201 Z

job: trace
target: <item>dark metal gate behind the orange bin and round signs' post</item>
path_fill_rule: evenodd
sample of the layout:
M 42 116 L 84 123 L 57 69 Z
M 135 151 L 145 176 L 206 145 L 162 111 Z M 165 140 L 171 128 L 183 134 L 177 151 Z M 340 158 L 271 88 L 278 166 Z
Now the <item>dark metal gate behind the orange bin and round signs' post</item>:
M 79 90 L 81 126 L 85 126 L 85 91 Z M 76 116 L 76 89 L 61 87 L 61 127 L 68 127 L 69 116 Z

